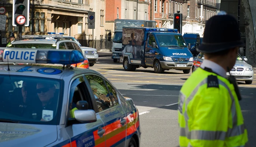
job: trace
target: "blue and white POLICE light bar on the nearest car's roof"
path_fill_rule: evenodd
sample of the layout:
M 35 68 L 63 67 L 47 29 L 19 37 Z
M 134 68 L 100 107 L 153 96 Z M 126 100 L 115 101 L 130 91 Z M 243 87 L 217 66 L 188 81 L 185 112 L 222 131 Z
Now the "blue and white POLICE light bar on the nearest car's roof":
M 85 60 L 77 50 L 56 49 L 0 49 L 0 62 L 76 64 Z

